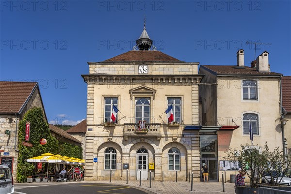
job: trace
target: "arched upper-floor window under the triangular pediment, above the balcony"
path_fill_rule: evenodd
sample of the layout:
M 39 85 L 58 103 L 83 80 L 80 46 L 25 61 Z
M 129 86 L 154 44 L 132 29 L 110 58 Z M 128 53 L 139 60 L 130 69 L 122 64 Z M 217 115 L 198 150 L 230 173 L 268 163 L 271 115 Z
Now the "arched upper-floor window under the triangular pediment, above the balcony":
M 150 98 L 136 98 L 135 99 L 135 122 L 150 121 Z

